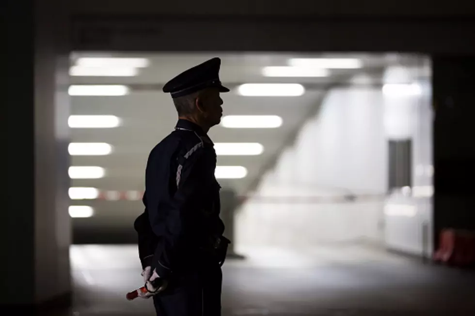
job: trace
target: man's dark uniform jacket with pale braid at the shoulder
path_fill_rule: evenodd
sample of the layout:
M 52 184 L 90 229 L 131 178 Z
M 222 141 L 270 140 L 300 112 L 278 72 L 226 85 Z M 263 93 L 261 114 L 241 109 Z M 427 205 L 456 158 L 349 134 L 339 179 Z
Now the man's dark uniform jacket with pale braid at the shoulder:
M 162 278 L 192 269 L 200 256 L 223 261 L 224 225 L 213 142 L 198 125 L 178 120 L 175 130 L 150 152 L 145 211 L 135 220 L 142 267 Z M 220 245 L 221 243 L 221 245 Z

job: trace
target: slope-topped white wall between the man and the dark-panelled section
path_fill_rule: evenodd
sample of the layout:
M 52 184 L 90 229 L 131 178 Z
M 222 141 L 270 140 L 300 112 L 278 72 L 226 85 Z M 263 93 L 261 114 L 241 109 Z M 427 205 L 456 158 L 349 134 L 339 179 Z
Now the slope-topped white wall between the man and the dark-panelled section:
M 284 118 L 285 119 L 285 118 Z M 384 194 L 387 145 L 378 88 L 333 89 L 262 180 L 257 196 L 301 196 L 304 203 L 250 199 L 238 211 L 237 246 L 308 247 L 321 242 L 380 241 L 383 200 L 316 202 L 316 196 Z

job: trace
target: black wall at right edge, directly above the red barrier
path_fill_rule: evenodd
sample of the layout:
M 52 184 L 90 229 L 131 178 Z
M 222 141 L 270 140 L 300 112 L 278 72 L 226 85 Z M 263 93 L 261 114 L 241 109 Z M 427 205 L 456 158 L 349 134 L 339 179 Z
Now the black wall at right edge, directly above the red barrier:
M 435 243 L 443 228 L 475 231 L 475 56 L 432 64 Z

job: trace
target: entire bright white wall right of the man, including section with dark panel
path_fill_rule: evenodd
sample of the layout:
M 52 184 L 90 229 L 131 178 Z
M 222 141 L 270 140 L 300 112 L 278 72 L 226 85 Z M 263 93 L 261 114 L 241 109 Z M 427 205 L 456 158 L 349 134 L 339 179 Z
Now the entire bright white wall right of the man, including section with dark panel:
M 358 85 L 330 90 L 317 116 L 302 127 L 295 145 L 263 179 L 256 197 L 239 210 L 237 244 L 308 247 L 364 240 L 430 256 L 433 166 L 428 70 L 428 60 L 423 59 L 420 67 L 386 70 L 383 83 L 419 87 L 409 95 Z M 412 140 L 412 188 L 386 196 L 388 141 L 405 139 Z M 348 194 L 356 200 L 345 201 Z

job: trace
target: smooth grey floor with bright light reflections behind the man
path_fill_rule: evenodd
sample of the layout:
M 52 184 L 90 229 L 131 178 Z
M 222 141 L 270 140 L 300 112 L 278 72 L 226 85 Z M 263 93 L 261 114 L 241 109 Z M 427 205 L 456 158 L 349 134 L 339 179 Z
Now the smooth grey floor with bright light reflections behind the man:
M 74 316 L 154 316 L 127 301 L 142 285 L 137 247 L 71 247 Z M 422 265 L 361 246 L 239 249 L 223 266 L 223 316 L 475 315 L 475 273 Z

